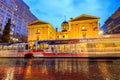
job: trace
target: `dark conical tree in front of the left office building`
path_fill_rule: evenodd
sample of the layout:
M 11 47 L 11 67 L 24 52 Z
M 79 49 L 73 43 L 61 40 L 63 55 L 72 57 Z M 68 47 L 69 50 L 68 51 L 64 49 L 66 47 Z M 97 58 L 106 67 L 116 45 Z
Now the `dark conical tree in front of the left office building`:
M 10 42 L 10 26 L 11 26 L 11 19 L 8 19 L 7 24 L 4 27 L 3 35 L 2 35 L 2 42 L 9 43 Z

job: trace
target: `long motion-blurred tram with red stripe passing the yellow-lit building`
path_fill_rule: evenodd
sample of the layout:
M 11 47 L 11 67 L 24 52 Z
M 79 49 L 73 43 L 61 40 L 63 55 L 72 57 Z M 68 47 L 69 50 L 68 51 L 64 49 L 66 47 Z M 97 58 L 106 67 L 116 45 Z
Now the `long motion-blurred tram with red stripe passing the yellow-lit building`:
M 32 53 L 36 57 L 120 57 L 120 35 L 104 35 L 79 39 L 36 40 L 33 48 L 30 48 L 29 42 L 0 44 L 0 50 L 14 51 L 16 54 Z

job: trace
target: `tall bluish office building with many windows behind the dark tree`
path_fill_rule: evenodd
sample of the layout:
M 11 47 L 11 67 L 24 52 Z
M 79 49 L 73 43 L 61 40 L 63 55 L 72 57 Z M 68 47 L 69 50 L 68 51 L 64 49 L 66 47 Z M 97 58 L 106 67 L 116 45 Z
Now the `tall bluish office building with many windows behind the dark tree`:
M 0 34 L 8 19 L 11 19 L 11 42 L 26 41 L 27 25 L 37 18 L 30 12 L 23 0 L 0 0 Z

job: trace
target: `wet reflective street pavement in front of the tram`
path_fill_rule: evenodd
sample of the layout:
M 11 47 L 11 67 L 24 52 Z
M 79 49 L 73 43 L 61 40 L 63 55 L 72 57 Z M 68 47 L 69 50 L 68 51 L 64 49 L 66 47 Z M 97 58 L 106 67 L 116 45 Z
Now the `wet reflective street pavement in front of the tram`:
M 0 80 L 120 80 L 120 59 L 0 59 Z

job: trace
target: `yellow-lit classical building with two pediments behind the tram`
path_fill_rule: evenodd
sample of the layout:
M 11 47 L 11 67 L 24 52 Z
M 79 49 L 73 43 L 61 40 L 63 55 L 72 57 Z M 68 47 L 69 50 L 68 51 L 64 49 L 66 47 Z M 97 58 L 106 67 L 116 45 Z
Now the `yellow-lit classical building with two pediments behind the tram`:
M 62 31 L 41 20 L 28 25 L 28 42 L 32 46 L 36 40 L 61 40 L 75 38 L 91 38 L 98 36 L 99 17 L 82 14 L 61 24 Z

